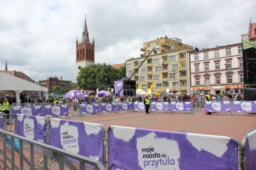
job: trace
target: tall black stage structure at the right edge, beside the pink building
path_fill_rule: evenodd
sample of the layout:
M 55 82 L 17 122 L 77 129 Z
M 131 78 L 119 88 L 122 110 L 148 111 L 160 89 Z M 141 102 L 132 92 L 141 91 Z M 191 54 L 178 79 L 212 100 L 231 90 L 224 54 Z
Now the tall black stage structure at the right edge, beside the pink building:
M 244 100 L 256 101 L 256 43 L 242 39 L 244 61 Z

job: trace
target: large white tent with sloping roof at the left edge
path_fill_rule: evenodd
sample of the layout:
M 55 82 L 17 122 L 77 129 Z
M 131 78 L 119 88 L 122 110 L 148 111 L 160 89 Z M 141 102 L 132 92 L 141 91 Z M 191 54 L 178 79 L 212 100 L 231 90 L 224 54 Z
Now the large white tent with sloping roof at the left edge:
M 16 94 L 16 102 L 19 103 L 20 92 L 33 94 L 38 92 L 48 92 L 48 89 L 32 82 L 12 76 L 5 72 L 0 72 L 0 95 Z M 47 93 L 46 93 L 47 94 Z M 46 98 L 48 95 L 46 96 Z

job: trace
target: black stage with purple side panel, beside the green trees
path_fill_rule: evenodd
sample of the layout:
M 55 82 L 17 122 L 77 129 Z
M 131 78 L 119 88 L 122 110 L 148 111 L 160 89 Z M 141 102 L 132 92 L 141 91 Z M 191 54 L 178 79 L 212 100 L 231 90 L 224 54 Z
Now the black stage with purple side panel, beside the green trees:
M 136 81 L 124 77 L 114 82 L 114 90 L 119 92 L 119 96 L 136 96 Z

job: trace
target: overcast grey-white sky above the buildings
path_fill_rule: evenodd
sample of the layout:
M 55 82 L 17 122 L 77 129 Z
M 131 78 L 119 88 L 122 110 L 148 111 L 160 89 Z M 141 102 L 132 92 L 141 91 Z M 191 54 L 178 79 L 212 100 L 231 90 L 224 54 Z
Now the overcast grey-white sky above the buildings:
M 193 47 L 241 43 L 256 0 L 0 0 L 0 70 L 35 81 L 75 82 L 76 37 L 86 14 L 95 63 L 140 57 L 143 43 L 167 35 Z

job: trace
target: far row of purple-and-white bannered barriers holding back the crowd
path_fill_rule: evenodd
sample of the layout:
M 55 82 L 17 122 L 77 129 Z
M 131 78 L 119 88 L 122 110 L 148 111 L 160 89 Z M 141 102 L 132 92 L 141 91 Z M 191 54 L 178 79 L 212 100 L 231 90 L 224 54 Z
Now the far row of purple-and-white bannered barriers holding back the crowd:
M 58 104 L 41 106 L 12 106 L 11 113 L 25 114 L 44 117 L 60 116 L 82 116 L 102 113 L 118 113 L 120 111 L 144 111 L 143 102 L 122 102 L 122 103 L 94 103 L 94 104 Z M 183 102 L 150 102 L 150 111 L 162 111 L 168 113 L 187 112 L 190 114 L 205 112 L 222 112 L 233 115 L 237 112 L 254 113 L 256 103 L 254 101 L 195 101 Z

